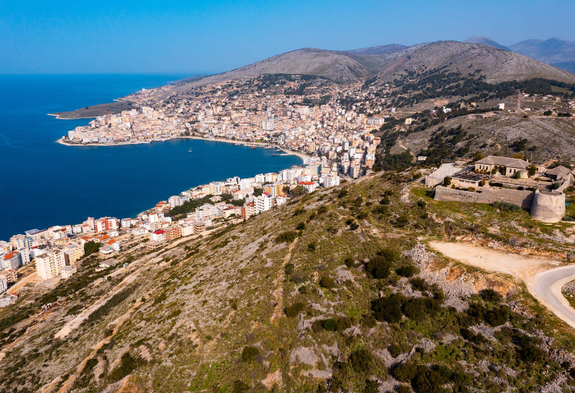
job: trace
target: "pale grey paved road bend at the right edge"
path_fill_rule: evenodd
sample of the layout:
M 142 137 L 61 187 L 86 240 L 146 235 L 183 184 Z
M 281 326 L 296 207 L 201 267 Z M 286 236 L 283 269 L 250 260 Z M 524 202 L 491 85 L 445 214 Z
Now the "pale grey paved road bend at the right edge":
M 575 279 L 575 266 L 573 265 L 545 270 L 545 272 L 536 274 L 534 289 L 539 297 L 554 308 L 554 312 L 559 318 L 575 327 L 575 310 L 561 295 L 563 285 L 573 279 Z

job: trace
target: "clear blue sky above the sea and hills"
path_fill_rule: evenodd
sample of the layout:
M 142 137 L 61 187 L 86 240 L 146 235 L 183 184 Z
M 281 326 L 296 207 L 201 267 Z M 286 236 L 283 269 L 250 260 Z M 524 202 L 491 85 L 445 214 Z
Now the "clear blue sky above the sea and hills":
M 575 41 L 573 1 L 0 2 L 0 74 L 217 73 L 303 47 Z

